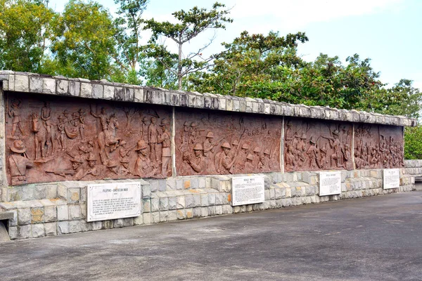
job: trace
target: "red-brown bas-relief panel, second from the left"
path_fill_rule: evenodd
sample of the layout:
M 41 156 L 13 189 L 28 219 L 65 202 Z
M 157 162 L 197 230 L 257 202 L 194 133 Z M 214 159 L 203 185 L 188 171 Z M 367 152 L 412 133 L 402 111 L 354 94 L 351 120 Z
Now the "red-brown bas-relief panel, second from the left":
M 280 171 L 282 119 L 176 110 L 177 175 Z

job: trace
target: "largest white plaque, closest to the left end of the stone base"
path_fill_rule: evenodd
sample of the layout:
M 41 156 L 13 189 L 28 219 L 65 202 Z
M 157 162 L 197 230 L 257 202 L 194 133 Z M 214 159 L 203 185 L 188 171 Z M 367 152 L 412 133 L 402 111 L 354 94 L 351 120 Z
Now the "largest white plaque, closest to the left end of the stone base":
M 141 215 L 141 183 L 100 183 L 87 188 L 87 221 Z

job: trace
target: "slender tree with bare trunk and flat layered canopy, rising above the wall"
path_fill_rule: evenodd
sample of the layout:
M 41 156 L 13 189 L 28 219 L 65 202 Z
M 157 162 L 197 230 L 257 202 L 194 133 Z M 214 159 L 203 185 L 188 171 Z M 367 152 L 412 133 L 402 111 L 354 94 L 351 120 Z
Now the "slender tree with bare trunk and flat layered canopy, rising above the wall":
M 198 51 L 189 53 L 184 57 L 183 46 L 186 42 L 191 41 L 205 30 L 210 29 L 225 29 L 226 22 L 232 22 L 231 18 L 226 18 L 230 12 L 229 10 L 220 10 L 224 8 L 224 4 L 216 2 L 212 5 L 212 9 L 207 11 L 206 8 L 198 8 L 197 6 L 191 8 L 189 11 L 177 11 L 172 13 L 174 18 L 179 22 L 174 24 L 171 22 L 158 22 L 154 19 L 146 20 L 146 29 L 150 29 L 153 32 L 151 38 L 152 44 L 157 44 L 158 37 L 163 36 L 172 39 L 177 44 L 177 70 L 173 70 L 172 66 L 167 65 L 164 60 L 156 56 L 155 59 L 159 60 L 160 63 L 167 70 L 173 72 L 177 76 L 178 89 L 182 89 L 182 79 L 189 73 L 198 72 L 205 70 L 210 67 L 210 61 L 213 57 L 203 58 L 203 51 L 207 46 L 210 46 L 212 39 L 208 44 L 199 48 Z M 158 47 L 160 48 L 160 47 Z M 151 53 L 155 53 L 153 50 Z

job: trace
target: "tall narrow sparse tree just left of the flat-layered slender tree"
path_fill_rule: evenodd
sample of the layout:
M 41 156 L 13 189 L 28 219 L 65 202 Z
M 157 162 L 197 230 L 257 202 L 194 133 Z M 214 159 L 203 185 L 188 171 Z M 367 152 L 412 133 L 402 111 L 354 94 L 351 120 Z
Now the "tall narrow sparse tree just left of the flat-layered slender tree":
M 145 47 L 141 46 L 142 14 L 148 0 L 115 0 L 120 4 L 114 20 L 117 52 L 113 56 L 116 64 L 129 84 L 141 84 L 139 63 L 145 60 Z

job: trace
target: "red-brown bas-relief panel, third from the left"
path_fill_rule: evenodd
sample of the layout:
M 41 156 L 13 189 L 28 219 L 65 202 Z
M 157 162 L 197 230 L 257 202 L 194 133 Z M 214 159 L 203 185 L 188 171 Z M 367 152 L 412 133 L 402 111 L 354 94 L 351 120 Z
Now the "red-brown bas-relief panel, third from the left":
M 352 124 L 286 118 L 285 171 L 353 169 Z

